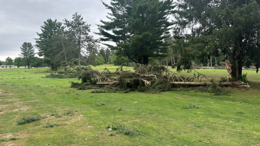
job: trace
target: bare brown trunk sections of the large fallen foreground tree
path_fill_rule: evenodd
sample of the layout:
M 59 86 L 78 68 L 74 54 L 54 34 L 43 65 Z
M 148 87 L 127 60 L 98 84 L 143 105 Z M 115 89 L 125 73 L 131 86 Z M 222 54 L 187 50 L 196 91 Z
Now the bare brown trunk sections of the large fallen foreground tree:
M 98 85 L 112 85 L 119 84 L 118 82 L 97 82 Z M 176 86 L 208 86 L 211 85 L 211 82 L 171 82 L 172 85 Z M 243 82 L 222 82 L 216 83 L 218 86 L 224 87 L 250 87 L 248 83 Z

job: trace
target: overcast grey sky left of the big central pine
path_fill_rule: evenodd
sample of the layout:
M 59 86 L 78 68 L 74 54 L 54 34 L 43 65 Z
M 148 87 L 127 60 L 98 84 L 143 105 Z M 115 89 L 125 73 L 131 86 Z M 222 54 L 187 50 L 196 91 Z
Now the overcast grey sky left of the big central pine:
M 23 42 L 35 44 L 36 32 L 41 32 L 43 21 L 71 20 L 75 12 L 91 25 L 91 35 L 99 38 L 93 32 L 98 32 L 96 24 L 100 19 L 106 20 L 108 12 L 101 0 L 0 0 L 0 60 L 18 57 Z

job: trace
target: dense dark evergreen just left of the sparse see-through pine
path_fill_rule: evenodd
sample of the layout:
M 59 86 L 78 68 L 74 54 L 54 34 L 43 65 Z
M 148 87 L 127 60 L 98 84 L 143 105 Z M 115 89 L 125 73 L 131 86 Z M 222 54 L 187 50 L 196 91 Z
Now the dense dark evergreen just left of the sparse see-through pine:
M 55 59 L 55 55 L 57 55 L 58 52 L 61 51 L 59 48 L 53 47 L 53 41 L 52 38 L 54 35 L 58 33 L 60 29 L 63 29 L 62 23 L 58 22 L 57 19 L 47 19 L 43 22 L 43 25 L 41 26 L 41 33 L 37 33 L 39 38 L 35 39 L 36 42 L 36 48 L 38 48 L 39 56 L 43 56 L 46 63 L 51 65 L 51 70 L 55 69 L 55 64 L 53 63 L 53 59 Z

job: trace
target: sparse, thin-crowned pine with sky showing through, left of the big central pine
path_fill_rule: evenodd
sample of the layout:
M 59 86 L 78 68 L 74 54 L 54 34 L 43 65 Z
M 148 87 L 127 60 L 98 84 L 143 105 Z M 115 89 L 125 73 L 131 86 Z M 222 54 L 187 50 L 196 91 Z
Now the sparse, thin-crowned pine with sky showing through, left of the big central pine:
M 89 35 L 90 25 L 83 21 L 83 17 L 77 12 L 72 15 L 72 20 L 65 19 L 65 25 L 67 27 L 66 33 L 72 38 L 78 52 L 78 65 L 81 67 L 82 53 L 93 51 L 92 45 L 96 42 L 93 36 Z M 96 52 L 96 51 L 95 51 Z M 87 53 L 85 53 L 87 54 Z

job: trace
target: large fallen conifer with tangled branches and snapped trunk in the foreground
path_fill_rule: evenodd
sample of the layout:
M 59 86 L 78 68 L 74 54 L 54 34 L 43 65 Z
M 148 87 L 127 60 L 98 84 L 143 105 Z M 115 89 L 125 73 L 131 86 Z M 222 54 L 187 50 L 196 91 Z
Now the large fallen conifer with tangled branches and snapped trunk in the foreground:
M 81 83 L 72 82 L 71 87 L 78 89 L 108 89 L 123 91 L 152 91 L 163 92 L 170 91 L 176 86 L 196 86 L 211 88 L 216 91 L 220 87 L 249 87 L 247 83 L 222 82 L 216 83 L 210 76 L 200 74 L 196 70 L 193 77 L 179 76 L 177 73 L 171 72 L 162 65 L 140 65 L 136 64 L 133 71 L 123 70 L 119 67 L 116 72 L 109 72 L 105 69 L 103 72 L 88 68 L 79 75 Z

